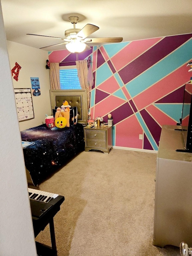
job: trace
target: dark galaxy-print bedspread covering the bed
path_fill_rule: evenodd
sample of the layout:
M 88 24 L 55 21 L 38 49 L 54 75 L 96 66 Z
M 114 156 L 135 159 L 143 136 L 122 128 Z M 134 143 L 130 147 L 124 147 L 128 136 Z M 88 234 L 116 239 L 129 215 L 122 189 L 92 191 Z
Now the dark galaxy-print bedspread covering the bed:
M 79 123 L 58 131 L 39 125 L 21 131 L 21 140 L 34 142 L 23 148 L 23 154 L 35 186 L 85 149 L 83 126 Z

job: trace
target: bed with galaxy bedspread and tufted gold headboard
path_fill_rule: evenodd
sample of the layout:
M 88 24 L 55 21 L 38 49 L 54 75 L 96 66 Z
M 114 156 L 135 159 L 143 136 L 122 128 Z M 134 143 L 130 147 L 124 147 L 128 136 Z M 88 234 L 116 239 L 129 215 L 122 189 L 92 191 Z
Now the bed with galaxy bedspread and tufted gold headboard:
M 85 149 L 86 90 L 50 90 L 50 100 L 53 115 L 64 100 L 68 101 L 71 108 L 77 109 L 77 123 L 55 131 L 46 124 L 21 131 L 22 142 L 30 144 L 23 146 L 27 181 L 36 187 Z

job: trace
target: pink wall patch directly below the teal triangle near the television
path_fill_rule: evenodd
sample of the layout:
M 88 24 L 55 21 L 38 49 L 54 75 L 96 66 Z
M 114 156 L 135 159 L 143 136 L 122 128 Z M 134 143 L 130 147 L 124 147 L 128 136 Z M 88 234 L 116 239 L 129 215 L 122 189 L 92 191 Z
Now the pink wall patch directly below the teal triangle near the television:
M 161 125 L 176 125 L 175 120 L 171 119 L 169 116 L 167 116 L 165 113 L 161 112 L 157 107 L 154 105 L 150 105 L 146 108 L 146 110 L 149 112 L 149 114 Z

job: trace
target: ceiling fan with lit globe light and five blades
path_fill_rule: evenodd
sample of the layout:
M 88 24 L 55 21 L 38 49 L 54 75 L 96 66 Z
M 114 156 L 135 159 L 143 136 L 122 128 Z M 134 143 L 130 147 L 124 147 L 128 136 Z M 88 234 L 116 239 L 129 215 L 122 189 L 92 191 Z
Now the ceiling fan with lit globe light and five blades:
M 65 38 L 46 36 L 46 35 L 35 35 L 35 34 L 27 34 L 27 35 L 61 39 L 64 41 L 63 43 L 41 47 L 40 49 L 50 47 L 50 46 L 55 46 L 55 45 L 66 44 L 67 50 L 70 51 L 71 53 L 80 53 L 80 52 L 83 52 L 84 50 L 85 51 L 90 50 L 91 47 L 89 47 L 86 43 L 119 43 L 123 40 L 122 37 L 87 38 L 89 35 L 97 31 L 99 27 L 92 24 L 86 24 L 82 29 L 76 29 L 75 24 L 77 24 L 79 17 L 70 16 L 69 20 L 73 24 L 73 29 L 65 30 Z

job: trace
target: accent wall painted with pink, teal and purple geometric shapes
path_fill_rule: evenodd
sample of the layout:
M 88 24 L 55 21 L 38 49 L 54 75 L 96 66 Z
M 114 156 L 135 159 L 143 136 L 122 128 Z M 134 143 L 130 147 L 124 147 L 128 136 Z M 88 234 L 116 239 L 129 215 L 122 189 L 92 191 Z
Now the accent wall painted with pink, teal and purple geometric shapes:
M 158 150 L 162 125 L 176 125 L 181 118 L 192 34 L 91 48 L 78 56 L 92 60 L 91 117 L 107 121 L 112 114 L 114 146 Z M 75 60 L 67 50 L 49 53 L 49 61 L 60 65 L 75 65 Z

